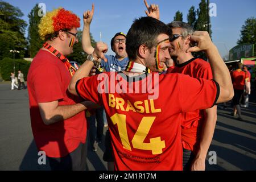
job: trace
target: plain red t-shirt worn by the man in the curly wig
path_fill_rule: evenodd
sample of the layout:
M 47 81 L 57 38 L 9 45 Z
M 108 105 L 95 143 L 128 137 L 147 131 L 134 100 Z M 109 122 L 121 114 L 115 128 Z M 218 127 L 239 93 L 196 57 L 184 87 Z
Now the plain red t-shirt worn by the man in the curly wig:
M 74 117 L 45 125 L 38 103 L 59 101 L 59 105 L 73 105 L 82 100 L 68 92 L 71 74 L 65 64 L 52 53 L 40 50 L 28 71 L 27 86 L 30 118 L 36 146 L 52 158 L 60 158 L 85 143 L 86 119 L 82 111 Z

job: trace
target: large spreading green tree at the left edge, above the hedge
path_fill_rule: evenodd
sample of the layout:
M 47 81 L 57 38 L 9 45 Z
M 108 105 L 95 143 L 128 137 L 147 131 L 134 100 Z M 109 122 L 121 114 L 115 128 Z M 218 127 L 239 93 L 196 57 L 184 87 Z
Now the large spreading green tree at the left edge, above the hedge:
M 11 49 L 20 52 L 15 55 L 16 58 L 23 57 L 27 45 L 24 37 L 27 23 L 20 19 L 22 16 L 23 13 L 18 7 L 0 1 L 0 60 L 13 57 Z

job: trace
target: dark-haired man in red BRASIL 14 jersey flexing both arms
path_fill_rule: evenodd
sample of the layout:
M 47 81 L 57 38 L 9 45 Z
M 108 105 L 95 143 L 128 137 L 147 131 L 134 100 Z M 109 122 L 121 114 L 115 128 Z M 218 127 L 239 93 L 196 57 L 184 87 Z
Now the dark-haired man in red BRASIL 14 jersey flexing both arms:
M 206 109 L 233 97 L 228 68 L 207 32 L 195 32 L 191 39 L 200 47 L 187 51 L 207 53 L 215 81 L 159 75 L 170 59 L 170 36 L 170 28 L 155 18 L 135 19 L 126 39 L 126 71 L 88 77 L 90 57 L 69 84 L 69 92 L 104 105 L 115 170 L 182 170 L 183 111 Z M 97 43 L 94 59 L 105 59 L 107 50 L 105 43 Z

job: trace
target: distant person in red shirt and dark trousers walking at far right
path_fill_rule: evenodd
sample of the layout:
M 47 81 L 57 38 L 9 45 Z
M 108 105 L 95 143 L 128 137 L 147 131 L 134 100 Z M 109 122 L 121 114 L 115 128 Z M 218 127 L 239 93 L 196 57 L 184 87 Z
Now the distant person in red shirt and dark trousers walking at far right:
M 241 108 L 240 108 L 240 100 L 243 96 L 243 89 L 246 88 L 246 93 L 249 93 L 249 87 L 247 84 L 247 81 L 249 80 L 249 77 L 247 76 L 246 72 L 242 71 L 243 64 L 238 64 L 238 69 L 232 72 L 232 82 L 234 87 L 234 98 L 233 98 L 233 106 L 234 110 L 232 115 L 236 116 L 238 114 L 238 120 L 243 121 L 242 115 L 241 115 Z

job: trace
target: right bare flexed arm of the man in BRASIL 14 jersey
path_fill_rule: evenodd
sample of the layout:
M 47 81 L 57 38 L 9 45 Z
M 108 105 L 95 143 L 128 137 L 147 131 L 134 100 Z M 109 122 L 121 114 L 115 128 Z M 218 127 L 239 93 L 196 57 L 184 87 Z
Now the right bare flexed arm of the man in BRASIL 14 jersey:
M 222 60 L 217 47 L 210 40 L 208 32 L 196 31 L 191 35 L 191 40 L 197 42 L 197 46 L 187 49 L 187 52 L 204 51 L 212 67 L 213 79 L 220 85 L 220 96 L 217 103 L 227 102 L 234 96 L 233 85 L 228 67 Z

